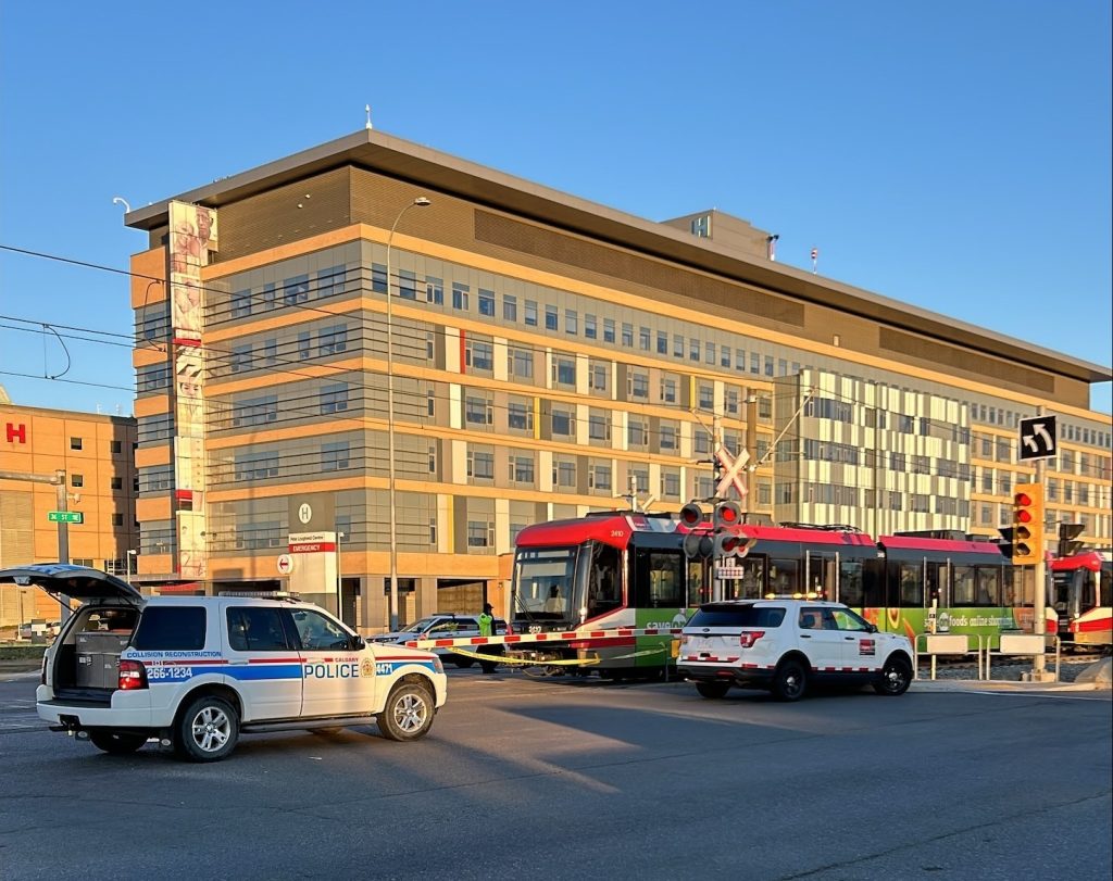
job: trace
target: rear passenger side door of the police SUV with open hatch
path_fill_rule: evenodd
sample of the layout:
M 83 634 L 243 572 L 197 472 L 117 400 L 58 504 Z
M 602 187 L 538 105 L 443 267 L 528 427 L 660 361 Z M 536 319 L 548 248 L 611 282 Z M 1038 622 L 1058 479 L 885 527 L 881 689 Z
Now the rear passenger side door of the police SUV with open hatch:
M 245 721 L 294 719 L 302 712 L 302 659 L 277 606 L 225 607 L 227 675 L 244 697 Z

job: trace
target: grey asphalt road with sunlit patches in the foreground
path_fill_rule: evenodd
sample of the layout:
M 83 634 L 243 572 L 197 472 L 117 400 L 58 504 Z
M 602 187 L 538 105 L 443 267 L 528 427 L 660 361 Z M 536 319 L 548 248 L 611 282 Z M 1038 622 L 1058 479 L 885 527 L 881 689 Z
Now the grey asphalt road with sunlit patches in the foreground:
M 245 736 L 186 764 L 43 729 L 0 675 L 0 877 L 1101 879 L 1110 692 L 869 692 L 450 673 L 432 733 Z

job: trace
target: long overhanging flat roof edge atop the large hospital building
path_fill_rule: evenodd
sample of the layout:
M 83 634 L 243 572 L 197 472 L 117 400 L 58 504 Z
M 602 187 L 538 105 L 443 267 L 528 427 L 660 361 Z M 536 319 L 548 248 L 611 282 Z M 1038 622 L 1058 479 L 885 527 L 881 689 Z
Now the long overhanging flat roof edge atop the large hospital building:
M 285 159 L 173 197 L 210 208 L 238 201 L 324 171 L 355 166 L 457 196 L 588 238 L 683 264 L 788 297 L 834 307 L 936 339 L 957 343 L 1086 383 L 1113 380 L 1109 367 L 1074 358 L 939 313 L 817 277 L 801 269 L 727 253 L 713 240 L 644 220 L 523 178 L 411 141 L 363 129 Z M 150 230 L 168 222 L 169 199 L 129 211 L 125 224 Z

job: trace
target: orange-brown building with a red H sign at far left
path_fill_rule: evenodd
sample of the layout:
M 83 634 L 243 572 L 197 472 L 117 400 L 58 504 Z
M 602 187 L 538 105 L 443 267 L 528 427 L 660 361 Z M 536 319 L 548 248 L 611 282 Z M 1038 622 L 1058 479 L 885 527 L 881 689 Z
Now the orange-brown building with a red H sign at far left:
M 134 571 L 135 448 L 131 417 L 19 406 L 0 388 L 0 568 L 56 562 L 61 543 L 72 563 Z M 59 508 L 81 522 L 50 519 Z M 42 591 L 0 585 L 0 628 L 43 617 L 58 605 Z

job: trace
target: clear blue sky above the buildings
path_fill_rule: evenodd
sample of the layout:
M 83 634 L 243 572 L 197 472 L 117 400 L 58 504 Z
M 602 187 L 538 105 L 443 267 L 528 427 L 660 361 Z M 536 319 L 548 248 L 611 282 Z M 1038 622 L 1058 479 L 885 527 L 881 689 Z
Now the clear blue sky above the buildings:
M 0 245 L 126 269 L 146 239 L 115 196 L 351 133 L 370 102 L 388 133 L 648 219 L 717 207 L 782 263 L 817 247 L 821 275 L 1109 365 L 1110 33 L 1109 0 L 9 0 Z M 41 324 L 126 336 L 127 303 L 122 275 L 0 250 L 0 372 L 62 374 Z M 101 339 L 68 339 L 62 378 L 109 387 L 0 384 L 130 414 L 127 340 Z

